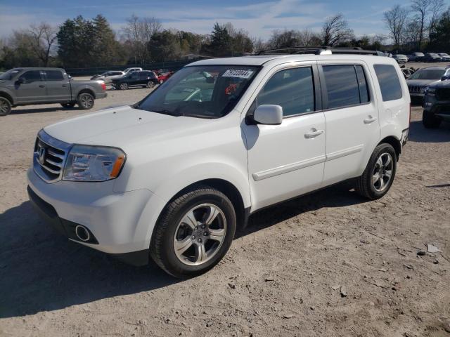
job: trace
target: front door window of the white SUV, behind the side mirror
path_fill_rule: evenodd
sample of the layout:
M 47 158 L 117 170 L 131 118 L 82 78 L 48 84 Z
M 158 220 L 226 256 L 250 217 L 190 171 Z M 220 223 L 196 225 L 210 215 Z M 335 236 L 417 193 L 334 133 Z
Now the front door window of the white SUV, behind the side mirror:
M 256 107 L 281 105 L 283 116 L 314 111 L 314 83 L 311 67 L 282 70 L 264 85 L 256 99 Z

